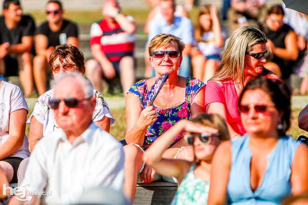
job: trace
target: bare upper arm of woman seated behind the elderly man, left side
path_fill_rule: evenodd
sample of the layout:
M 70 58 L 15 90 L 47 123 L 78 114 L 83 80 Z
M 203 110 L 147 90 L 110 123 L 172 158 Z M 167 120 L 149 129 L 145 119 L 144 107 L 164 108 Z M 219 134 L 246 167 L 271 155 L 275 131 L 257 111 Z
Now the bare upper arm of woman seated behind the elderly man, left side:
M 30 131 L 28 136 L 29 151 L 32 152 L 36 143 L 43 138 L 43 124 L 39 122 L 34 116 L 31 119 Z

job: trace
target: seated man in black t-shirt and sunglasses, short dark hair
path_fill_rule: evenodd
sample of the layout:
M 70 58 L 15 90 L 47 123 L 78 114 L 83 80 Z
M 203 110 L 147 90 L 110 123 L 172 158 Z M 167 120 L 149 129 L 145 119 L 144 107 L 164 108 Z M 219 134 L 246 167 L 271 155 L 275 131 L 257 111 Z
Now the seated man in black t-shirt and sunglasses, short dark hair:
M 37 55 L 33 60 L 33 75 L 39 95 L 46 92 L 49 56 L 55 47 L 62 44 L 77 46 L 78 28 L 71 21 L 63 19 L 62 4 L 58 0 L 50 0 L 46 4 L 47 21 L 43 22 L 35 33 Z

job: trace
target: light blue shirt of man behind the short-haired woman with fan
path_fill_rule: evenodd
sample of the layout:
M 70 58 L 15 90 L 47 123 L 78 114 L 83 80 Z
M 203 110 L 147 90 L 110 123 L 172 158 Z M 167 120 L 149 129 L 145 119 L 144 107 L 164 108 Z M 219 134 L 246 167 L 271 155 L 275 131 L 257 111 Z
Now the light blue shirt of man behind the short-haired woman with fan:
M 189 18 L 174 17 L 171 25 L 168 25 L 163 16 L 158 16 L 149 23 L 148 42 L 157 34 L 172 34 L 182 39 L 185 44 L 193 42 L 193 25 Z

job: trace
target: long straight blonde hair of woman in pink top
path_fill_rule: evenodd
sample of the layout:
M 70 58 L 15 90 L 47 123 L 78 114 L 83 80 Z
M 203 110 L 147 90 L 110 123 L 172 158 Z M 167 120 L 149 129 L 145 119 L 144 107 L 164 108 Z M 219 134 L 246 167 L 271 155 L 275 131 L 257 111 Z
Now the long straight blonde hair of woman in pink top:
M 226 49 L 221 57 L 218 72 L 210 80 L 239 81 L 244 86 L 245 70 L 249 74 L 256 75 L 252 70 L 245 67 L 245 52 L 253 50 L 256 43 L 266 43 L 265 34 L 253 26 L 242 26 L 235 30 L 229 38 Z

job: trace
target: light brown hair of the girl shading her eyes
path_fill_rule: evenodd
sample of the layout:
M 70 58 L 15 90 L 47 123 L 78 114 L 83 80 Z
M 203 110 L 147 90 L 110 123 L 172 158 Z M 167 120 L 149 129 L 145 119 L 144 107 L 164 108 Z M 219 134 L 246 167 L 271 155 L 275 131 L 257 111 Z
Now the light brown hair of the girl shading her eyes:
M 229 140 L 229 132 L 225 120 L 217 114 L 200 113 L 191 119 L 192 122 L 204 126 L 213 127 L 218 130 L 218 139 L 221 141 Z

